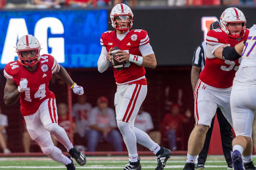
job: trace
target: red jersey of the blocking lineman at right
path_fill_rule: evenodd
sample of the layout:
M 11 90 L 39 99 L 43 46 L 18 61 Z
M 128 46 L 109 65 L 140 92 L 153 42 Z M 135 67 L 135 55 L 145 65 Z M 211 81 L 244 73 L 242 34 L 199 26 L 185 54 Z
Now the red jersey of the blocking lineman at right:
M 235 47 L 236 44 L 247 40 L 249 30 L 246 29 L 246 33 L 242 39 L 237 40 L 228 36 L 223 30 L 215 29 L 210 30 L 207 33 L 206 43 L 209 45 L 221 45 L 229 44 L 230 47 Z M 210 51 L 208 51 L 210 50 Z M 238 70 L 240 65 L 239 59 L 235 61 L 221 60 L 219 58 L 213 58 L 212 49 L 206 48 L 206 61 L 204 70 L 199 75 L 199 78 L 205 84 L 213 86 L 215 88 L 229 88 L 232 86 L 233 79 L 235 77 L 235 72 Z M 211 54 L 212 56 L 207 56 Z M 208 57 L 208 58 L 207 58 Z

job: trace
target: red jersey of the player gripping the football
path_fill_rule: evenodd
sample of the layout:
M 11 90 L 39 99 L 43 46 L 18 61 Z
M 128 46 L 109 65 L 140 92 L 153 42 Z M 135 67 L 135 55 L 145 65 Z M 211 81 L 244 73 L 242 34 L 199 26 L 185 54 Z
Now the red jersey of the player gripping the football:
M 147 43 L 149 43 L 149 36 L 145 30 L 130 30 L 121 41 L 116 37 L 116 31 L 106 31 L 102 34 L 100 39 L 100 44 L 106 46 L 107 51 L 109 51 L 111 47 L 117 46 L 128 54 L 136 56 L 142 56 L 139 46 Z M 126 61 L 121 71 L 116 70 L 114 67 L 113 70 L 116 84 L 147 84 L 146 78 L 144 77 L 146 71 L 143 66 Z

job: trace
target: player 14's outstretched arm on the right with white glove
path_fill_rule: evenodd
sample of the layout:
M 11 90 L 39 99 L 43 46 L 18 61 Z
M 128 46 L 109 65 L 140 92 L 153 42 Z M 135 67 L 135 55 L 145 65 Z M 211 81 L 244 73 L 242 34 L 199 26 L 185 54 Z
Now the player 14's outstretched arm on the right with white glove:
M 66 69 L 62 67 L 62 65 L 57 64 L 57 69 L 55 70 L 55 75 L 62 79 L 66 84 L 69 84 L 70 88 L 72 88 L 73 92 L 78 95 L 83 95 L 83 87 L 78 86 L 69 76 Z

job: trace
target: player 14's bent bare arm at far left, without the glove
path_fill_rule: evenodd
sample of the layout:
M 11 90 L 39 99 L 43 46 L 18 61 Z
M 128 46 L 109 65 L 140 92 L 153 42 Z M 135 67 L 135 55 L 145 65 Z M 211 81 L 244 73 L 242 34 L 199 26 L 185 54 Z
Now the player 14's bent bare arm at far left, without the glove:
M 21 92 L 18 91 L 18 88 L 13 80 L 6 79 L 5 90 L 4 90 L 4 102 L 5 105 L 9 106 L 17 102 Z

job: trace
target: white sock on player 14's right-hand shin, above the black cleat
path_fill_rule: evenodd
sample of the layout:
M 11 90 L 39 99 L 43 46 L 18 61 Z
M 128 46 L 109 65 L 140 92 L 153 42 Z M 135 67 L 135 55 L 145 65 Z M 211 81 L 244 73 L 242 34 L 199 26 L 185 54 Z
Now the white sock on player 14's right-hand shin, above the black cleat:
M 73 144 L 70 142 L 68 135 L 66 134 L 66 131 L 64 128 L 60 127 L 57 124 L 53 124 L 47 128 L 47 130 L 55 135 L 56 139 L 63 144 L 63 146 L 66 148 L 67 151 L 69 151 L 71 148 L 73 148 Z

